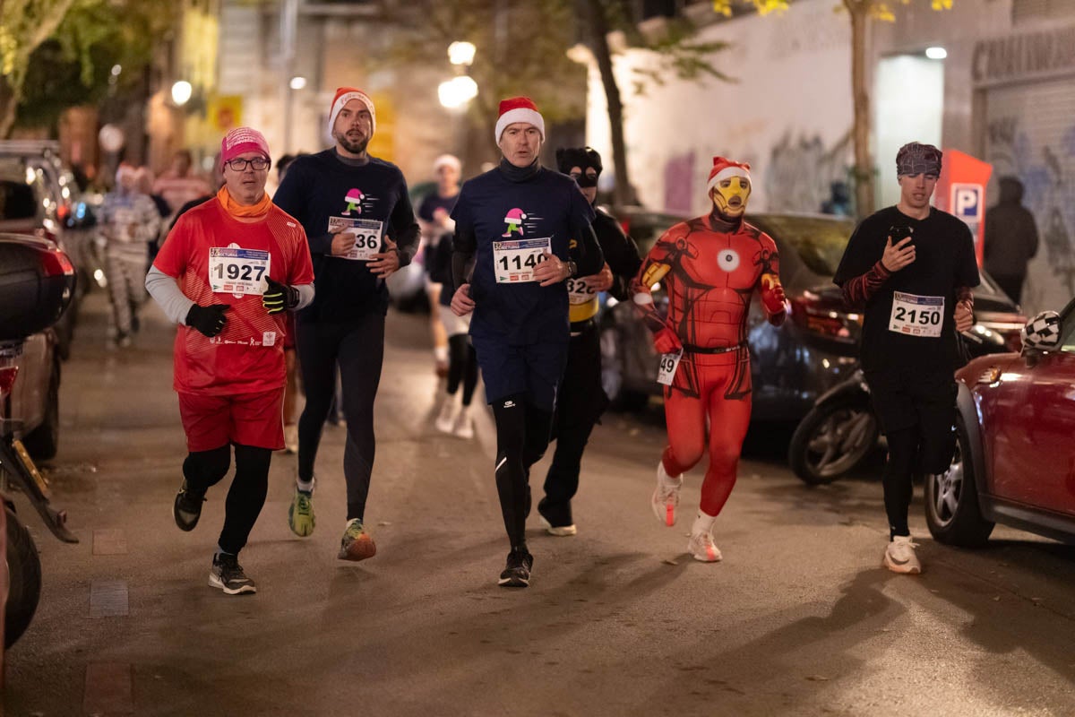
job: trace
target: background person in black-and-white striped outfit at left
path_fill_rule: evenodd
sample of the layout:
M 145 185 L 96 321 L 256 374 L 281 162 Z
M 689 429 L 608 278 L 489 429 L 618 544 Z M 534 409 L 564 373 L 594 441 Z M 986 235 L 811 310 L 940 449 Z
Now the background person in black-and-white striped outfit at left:
M 104 196 L 99 223 L 115 316 L 113 346 L 120 348 L 130 346 L 138 326 L 138 309 L 145 299 L 146 246 L 160 231 L 160 214 L 153 200 L 138 190 L 138 169 L 119 164 L 116 187 Z

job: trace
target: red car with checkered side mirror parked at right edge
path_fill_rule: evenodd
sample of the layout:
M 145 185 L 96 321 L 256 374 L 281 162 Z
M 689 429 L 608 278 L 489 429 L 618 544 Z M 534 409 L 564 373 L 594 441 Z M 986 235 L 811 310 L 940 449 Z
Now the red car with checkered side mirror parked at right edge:
M 983 356 L 956 374 L 956 456 L 926 482 L 937 541 L 979 546 L 1001 522 L 1075 544 L 1075 300 L 1057 328 L 1038 348 Z

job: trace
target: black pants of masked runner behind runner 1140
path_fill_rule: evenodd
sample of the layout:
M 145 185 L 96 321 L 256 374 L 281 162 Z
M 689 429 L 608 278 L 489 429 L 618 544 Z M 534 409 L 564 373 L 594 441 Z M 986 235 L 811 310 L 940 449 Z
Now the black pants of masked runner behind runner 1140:
M 583 451 L 594 424 L 608 406 L 601 388 L 601 344 L 592 322 L 568 347 L 568 368 L 563 373 L 553 419 L 556 453 L 545 476 L 545 498 L 538 510 L 556 527 L 570 526 L 571 499 L 578 490 Z

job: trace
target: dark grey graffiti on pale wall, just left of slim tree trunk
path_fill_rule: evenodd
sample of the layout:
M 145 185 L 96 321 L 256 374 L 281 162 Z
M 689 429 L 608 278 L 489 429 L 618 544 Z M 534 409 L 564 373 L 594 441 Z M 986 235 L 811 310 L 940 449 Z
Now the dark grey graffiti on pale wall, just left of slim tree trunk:
M 852 164 L 851 132 L 827 147 L 820 135 L 792 139 L 786 133 L 770 150 L 765 193 L 771 212 L 820 212 L 832 184 L 847 182 Z

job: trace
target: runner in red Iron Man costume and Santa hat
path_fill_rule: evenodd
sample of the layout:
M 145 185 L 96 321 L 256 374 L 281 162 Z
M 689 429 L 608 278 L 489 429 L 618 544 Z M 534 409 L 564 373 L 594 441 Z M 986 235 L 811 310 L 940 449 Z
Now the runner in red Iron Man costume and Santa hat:
M 710 425 L 710 464 L 702 483 L 701 513 L 691 529 L 690 551 L 713 562 L 712 527 L 732 487 L 750 422 L 750 357 L 746 320 L 760 292 L 769 321 L 786 317 L 776 244 L 743 220 L 750 195 L 749 164 L 714 158 L 710 173 L 713 212 L 669 229 L 646 256 L 633 283 L 635 307 L 654 332 L 661 354 L 683 349 L 664 388 L 669 443 L 658 467 L 654 511 L 675 524 L 682 474 L 702 458 Z M 668 316 L 654 304 L 660 283 Z

